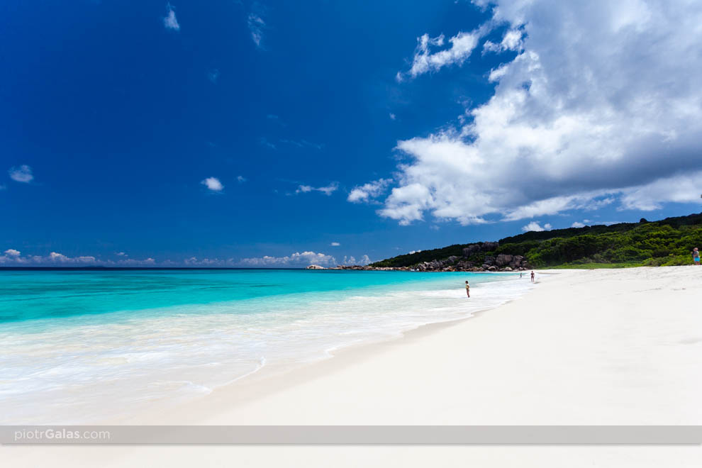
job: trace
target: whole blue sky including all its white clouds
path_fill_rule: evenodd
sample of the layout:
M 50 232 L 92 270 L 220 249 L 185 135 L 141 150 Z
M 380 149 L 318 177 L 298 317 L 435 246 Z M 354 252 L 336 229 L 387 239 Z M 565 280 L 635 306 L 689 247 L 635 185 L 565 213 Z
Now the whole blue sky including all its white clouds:
M 0 4 L 0 266 L 365 264 L 701 211 L 698 1 Z

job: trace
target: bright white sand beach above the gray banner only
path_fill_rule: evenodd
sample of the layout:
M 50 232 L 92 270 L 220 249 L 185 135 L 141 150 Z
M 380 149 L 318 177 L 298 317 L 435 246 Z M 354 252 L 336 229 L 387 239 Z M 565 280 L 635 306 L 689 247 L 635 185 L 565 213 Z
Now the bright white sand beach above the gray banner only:
M 167 422 L 700 424 L 694 402 L 702 352 L 689 353 L 702 336 L 669 342 L 666 335 L 702 325 L 670 294 L 694 299 L 694 289 L 681 285 L 699 279 L 702 269 L 689 267 L 553 272 L 520 300 L 474 320 L 424 325 L 278 376 L 223 386 L 174 408 Z M 587 296 L 589 288 L 599 295 Z M 573 297 L 582 299 L 574 304 Z M 671 305 L 675 321 L 659 313 Z M 164 420 L 141 416 L 133 421 Z

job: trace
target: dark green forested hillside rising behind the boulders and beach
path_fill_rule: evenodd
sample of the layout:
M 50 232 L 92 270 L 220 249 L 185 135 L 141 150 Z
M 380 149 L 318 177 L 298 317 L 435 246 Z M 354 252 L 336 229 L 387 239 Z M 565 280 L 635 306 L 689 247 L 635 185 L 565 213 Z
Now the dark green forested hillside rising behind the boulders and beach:
M 411 267 L 420 262 L 462 257 L 469 244 L 381 260 L 372 267 Z M 529 232 L 501 239 L 488 251 L 472 252 L 467 258 L 480 262 L 486 256 L 523 255 L 538 268 L 621 268 L 667 266 L 691 263 L 693 247 L 702 249 L 702 213 L 662 221 L 594 225 L 584 228 Z

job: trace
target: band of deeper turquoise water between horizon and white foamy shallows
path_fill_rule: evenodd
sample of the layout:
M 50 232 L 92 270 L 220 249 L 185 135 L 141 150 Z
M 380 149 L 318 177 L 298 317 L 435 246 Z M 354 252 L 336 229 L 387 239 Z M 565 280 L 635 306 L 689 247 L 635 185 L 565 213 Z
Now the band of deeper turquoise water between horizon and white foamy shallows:
M 306 294 L 310 299 L 333 291 L 347 296 L 357 289 L 372 291 L 382 286 L 440 286 L 447 277 L 456 277 L 458 285 L 462 278 L 472 282 L 486 279 L 486 275 L 465 273 L 438 276 L 300 269 L 0 271 L 0 323 L 115 311 L 162 313 L 160 309 L 170 306 L 272 299 L 289 294 Z

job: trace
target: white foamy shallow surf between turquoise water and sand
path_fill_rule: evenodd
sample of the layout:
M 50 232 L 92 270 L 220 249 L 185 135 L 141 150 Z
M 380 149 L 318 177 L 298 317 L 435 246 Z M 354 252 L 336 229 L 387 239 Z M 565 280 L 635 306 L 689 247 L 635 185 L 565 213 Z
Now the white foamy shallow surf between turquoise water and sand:
M 9 354 L 8 368 L 22 376 L 27 373 L 22 363 L 34 362 L 43 372 L 37 379 L 58 387 L 51 391 L 48 385 L 44 391 L 26 384 L 38 390 L 10 394 L 2 419 L 6 424 L 101 424 L 147 420 L 141 416 L 155 413 L 157 420 L 224 387 L 328 360 L 346 347 L 401 338 L 430 323 L 466 318 L 533 287 L 516 274 L 399 276 L 347 272 L 344 277 L 352 281 L 331 284 L 360 287 L 200 306 L 212 313 L 189 314 L 181 307 L 144 316 L 95 313 L 13 324 L 19 333 L 11 340 L 16 352 Z M 295 278 L 310 281 L 306 274 Z M 478 297 L 465 298 L 464 279 L 479 288 L 474 290 Z M 247 313 L 259 310 L 265 312 L 260 318 Z M 22 382 L 16 389 L 23 388 Z M 84 397 L 77 398 L 80 391 Z

